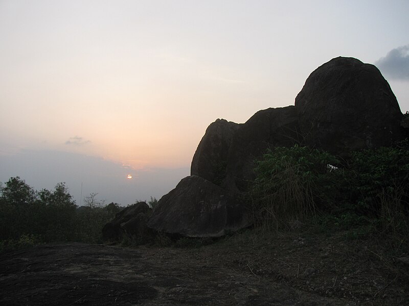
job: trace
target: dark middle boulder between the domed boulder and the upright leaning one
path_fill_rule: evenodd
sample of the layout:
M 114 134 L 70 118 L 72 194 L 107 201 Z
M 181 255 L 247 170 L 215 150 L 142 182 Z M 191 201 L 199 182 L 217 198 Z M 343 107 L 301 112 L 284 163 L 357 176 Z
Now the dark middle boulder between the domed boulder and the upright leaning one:
M 255 160 L 267 148 L 292 146 L 299 143 L 299 126 L 296 108 L 269 108 L 258 111 L 234 134 L 227 158 L 226 179 L 223 187 L 244 191 L 248 181 L 254 179 Z

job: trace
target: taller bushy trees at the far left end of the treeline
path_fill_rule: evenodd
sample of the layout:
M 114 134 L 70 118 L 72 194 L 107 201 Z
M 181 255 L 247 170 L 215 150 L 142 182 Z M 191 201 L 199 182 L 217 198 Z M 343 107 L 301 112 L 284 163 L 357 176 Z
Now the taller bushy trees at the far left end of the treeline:
M 20 177 L 0 187 L 1 240 L 32 234 L 41 241 L 66 241 L 75 223 L 75 201 L 64 183 L 53 191 L 35 191 Z

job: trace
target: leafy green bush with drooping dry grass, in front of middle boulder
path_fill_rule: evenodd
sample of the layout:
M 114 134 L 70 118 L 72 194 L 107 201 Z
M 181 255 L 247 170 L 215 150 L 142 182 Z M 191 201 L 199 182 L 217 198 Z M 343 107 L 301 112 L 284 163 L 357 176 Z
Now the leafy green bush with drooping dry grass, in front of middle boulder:
M 258 225 L 280 227 L 314 215 L 325 198 L 336 159 L 307 147 L 269 149 L 256 162 L 251 189 L 253 214 Z

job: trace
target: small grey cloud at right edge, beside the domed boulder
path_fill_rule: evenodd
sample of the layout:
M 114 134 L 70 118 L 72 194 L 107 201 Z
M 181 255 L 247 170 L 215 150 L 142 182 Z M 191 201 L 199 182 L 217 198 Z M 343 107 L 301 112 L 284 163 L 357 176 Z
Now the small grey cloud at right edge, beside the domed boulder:
M 390 50 L 375 65 L 391 79 L 409 80 L 409 45 Z

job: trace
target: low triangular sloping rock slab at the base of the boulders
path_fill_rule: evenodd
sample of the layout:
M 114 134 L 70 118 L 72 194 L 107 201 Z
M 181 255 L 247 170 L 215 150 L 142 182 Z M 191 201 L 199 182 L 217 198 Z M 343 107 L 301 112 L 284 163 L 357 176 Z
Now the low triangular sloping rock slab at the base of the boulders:
M 186 237 L 221 237 L 248 227 L 249 220 L 237 198 L 212 182 L 191 175 L 158 201 L 148 227 Z

